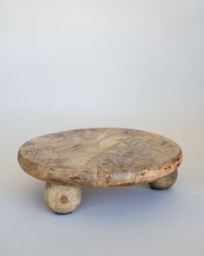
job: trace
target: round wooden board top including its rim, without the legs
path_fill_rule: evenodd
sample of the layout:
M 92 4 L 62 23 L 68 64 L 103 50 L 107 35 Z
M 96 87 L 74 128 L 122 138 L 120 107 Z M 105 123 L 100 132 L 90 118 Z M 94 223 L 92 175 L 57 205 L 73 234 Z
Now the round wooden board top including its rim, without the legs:
M 18 161 L 50 183 L 118 187 L 157 181 L 174 173 L 181 148 L 161 135 L 125 128 L 89 128 L 43 135 L 22 145 Z

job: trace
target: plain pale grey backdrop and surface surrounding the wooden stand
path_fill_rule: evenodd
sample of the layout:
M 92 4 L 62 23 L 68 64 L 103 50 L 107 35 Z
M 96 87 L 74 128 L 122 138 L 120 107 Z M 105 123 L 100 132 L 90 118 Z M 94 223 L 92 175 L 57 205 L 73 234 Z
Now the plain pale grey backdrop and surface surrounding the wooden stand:
M 204 2 L 0 0 L 0 254 L 204 255 Z M 16 153 L 36 135 L 124 127 L 177 141 L 175 187 L 83 190 L 48 211 Z

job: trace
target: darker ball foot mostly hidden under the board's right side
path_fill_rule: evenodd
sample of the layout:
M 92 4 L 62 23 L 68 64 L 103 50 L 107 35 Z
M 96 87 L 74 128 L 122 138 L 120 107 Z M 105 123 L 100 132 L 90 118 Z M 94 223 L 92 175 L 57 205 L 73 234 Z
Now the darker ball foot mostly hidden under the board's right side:
M 166 189 L 173 186 L 175 184 L 176 179 L 177 170 L 174 173 L 171 173 L 158 181 L 150 182 L 150 187 L 159 190 Z

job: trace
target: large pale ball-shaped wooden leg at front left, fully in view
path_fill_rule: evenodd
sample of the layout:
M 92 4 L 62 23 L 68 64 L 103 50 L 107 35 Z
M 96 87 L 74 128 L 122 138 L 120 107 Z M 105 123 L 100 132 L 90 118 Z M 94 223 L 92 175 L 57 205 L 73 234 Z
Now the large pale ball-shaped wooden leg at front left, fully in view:
M 54 213 L 72 213 L 80 205 L 81 188 L 47 182 L 45 200 Z

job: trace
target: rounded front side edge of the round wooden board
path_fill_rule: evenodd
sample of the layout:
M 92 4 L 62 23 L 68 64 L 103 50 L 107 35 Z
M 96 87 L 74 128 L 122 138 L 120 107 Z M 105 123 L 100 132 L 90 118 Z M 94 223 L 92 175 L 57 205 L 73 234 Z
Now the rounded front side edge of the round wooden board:
M 182 149 L 180 148 L 179 154 L 175 156 L 173 160 L 163 163 L 163 165 L 157 167 L 150 167 L 149 169 L 143 169 L 138 172 L 121 172 L 118 174 L 105 174 L 103 177 L 99 175 L 92 174 L 92 179 L 90 176 L 86 181 L 73 181 L 72 176 L 67 176 L 59 178 L 57 172 L 52 172 L 48 167 L 41 167 L 38 163 L 30 162 L 25 159 L 21 152 L 21 148 L 18 151 L 18 162 L 22 169 L 29 175 L 35 177 L 38 180 L 59 183 L 59 184 L 69 184 L 69 186 L 76 187 L 124 187 L 133 186 L 143 183 L 150 183 L 163 178 L 164 176 L 175 172 L 182 163 Z M 41 171 L 43 170 L 43 171 Z M 117 179 L 114 175 L 118 175 Z

